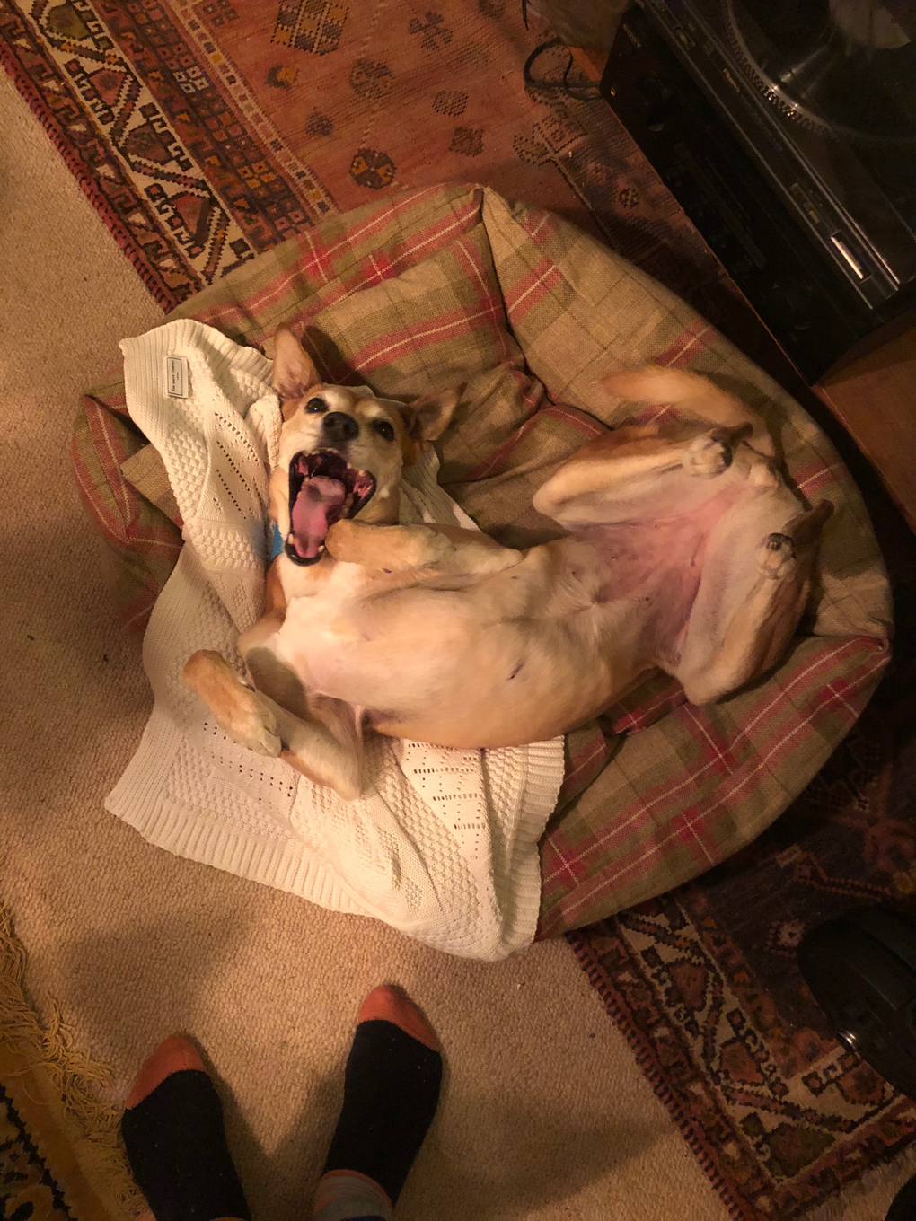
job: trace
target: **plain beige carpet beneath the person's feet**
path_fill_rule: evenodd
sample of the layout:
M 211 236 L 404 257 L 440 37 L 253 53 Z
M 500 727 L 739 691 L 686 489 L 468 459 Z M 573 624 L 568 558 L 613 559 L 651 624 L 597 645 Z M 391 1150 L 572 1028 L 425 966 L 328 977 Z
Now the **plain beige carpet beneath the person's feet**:
M 448 1057 L 402 1221 L 723 1221 L 564 943 L 456 961 L 167 856 L 103 810 L 149 696 L 71 486 L 70 424 L 117 339 L 160 314 L 5 77 L 0 129 L 0 889 L 39 1011 L 61 1002 L 112 1096 L 158 1039 L 199 1039 L 256 1219 L 309 1215 L 353 1015 L 387 979 Z M 855 1221 L 887 1206 L 866 1203 Z

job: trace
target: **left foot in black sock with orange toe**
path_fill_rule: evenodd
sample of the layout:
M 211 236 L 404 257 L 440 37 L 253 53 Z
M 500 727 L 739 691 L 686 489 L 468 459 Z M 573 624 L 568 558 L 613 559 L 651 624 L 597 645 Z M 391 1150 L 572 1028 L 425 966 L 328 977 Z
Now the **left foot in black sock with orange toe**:
M 222 1104 L 197 1048 L 160 1043 L 127 1095 L 121 1133 L 155 1221 L 250 1221 Z

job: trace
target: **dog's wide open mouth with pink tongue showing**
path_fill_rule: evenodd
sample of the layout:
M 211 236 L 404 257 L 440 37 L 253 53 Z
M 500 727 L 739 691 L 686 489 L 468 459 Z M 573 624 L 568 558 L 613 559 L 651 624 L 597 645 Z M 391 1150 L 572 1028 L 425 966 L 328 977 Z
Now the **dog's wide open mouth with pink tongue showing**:
M 289 463 L 289 534 L 283 549 L 294 564 L 314 564 L 325 553 L 327 531 L 352 518 L 375 492 L 368 470 L 354 470 L 333 449 L 299 453 Z

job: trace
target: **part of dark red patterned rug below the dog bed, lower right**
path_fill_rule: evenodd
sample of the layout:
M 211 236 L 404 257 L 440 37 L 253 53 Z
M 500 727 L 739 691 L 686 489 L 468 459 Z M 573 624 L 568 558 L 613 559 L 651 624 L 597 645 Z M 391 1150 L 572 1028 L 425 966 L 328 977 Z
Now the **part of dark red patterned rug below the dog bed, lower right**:
M 795 961 L 807 928 L 852 907 L 916 918 L 916 540 L 868 499 L 898 643 L 857 726 L 743 852 L 569 934 L 735 1221 L 839 1217 L 850 1187 L 916 1172 L 916 1103 L 832 1038 Z

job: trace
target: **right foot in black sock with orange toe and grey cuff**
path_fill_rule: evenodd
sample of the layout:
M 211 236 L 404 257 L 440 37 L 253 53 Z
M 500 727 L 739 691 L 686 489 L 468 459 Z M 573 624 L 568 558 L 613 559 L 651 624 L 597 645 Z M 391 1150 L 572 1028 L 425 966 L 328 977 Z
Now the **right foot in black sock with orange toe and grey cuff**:
M 382 984 L 357 1022 L 314 1221 L 390 1221 L 438 1104 L 442 1055 L 419 1009 Z

